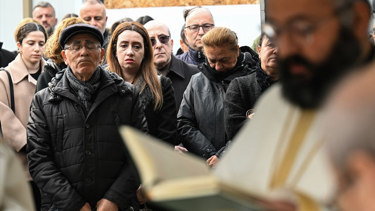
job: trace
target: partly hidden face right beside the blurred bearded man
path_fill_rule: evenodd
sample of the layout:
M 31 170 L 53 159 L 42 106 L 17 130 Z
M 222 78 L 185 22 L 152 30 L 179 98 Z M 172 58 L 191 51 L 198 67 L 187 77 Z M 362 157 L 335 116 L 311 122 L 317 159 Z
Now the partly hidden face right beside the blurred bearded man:
M 261 60 L 262 70 L 274 81 L 279 80 L 276 52 L 275 45 L 270 42 L 267 36 L 264 36 L 262 46 L 258 46 L 259 59 Z

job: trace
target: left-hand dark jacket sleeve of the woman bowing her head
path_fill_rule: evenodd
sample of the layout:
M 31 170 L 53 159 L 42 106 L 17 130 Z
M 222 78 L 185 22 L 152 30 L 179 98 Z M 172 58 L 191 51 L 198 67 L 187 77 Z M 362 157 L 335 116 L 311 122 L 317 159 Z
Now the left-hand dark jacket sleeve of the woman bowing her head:
M 192 82 L 193 80 L 190 81 L 184 92 L 177 115 L 178 136 L 188 151 L 208 159 L 216 154 L 217 149 L 197 127 Z

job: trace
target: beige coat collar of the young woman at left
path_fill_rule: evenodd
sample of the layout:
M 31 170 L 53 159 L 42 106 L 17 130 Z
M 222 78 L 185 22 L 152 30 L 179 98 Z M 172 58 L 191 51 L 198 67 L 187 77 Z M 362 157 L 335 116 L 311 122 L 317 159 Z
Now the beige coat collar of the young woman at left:
M 43 58 L 40 59 L 40 65 L 42 66 L 43 72 L 43 66 L 47 65 Z M 20 81 L 22 81 L 25 77 L 28 77 L 28 81 L 36 85 L 36 80 L 29 74 L 25 63 L 22 60 L 22 54 L 18 54 L 16 58 L 13 60 L 13 62 L 9 63 L 8 68 L 9 70 L 11 70 L 9 72 L 12 76 L 13 84 L 20 83 Z

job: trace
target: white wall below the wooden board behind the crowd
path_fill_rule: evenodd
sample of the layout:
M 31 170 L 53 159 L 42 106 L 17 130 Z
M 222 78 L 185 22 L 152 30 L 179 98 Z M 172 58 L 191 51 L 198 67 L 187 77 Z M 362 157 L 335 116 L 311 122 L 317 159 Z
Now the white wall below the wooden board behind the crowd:
M 153 7 L 153 8 L 127 8 L 108 9 L 107 27 L 124 17 L 137 18 L 148 15 L 154 20 L 162 21 L 171 30 L 171 37 L 174 39 L 173 53 L 180 47 L 180 32 L 184 24 L 182 11 L 189 7 Z M 251 46 L 260 31 L 260 5 L 217 5 L 204 6 L 208 8 L 215 21 L 215 26 L 227 27 L 237 33 L 239 45 Z

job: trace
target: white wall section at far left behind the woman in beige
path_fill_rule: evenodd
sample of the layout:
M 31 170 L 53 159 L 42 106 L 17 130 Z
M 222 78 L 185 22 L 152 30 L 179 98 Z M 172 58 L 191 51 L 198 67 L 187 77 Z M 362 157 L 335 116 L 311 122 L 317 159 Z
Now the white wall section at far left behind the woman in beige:
M 9 51 L 17 50 L 14 31 L 23 19 L 22 0 L 0 0 L 0 42 Z

